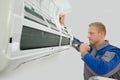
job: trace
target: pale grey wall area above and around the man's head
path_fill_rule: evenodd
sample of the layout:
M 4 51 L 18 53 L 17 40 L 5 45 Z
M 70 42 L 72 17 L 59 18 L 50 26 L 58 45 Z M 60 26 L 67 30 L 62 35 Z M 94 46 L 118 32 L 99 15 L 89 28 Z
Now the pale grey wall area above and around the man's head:
M 100 21 L 106 25 L 106 39 L 120 47 L 119 0 L 70 0 L 72 13 L 66 16 L 66 24 L 75 36 L 88 42 L 88 24 Z

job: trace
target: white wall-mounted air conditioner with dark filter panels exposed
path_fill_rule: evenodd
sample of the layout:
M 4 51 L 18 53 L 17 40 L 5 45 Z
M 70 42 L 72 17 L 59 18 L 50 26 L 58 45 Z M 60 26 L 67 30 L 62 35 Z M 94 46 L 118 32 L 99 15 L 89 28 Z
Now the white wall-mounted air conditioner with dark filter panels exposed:
M 40 2 L 0 1 L 0 72 L 70 47 L 72 35 L 63 33 L 59 23 L 42 11 Z

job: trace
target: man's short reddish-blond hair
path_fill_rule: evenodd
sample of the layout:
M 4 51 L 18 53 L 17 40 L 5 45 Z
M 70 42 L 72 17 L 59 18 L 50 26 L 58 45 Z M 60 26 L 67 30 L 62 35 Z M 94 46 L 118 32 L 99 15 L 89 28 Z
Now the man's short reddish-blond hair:
M 101 22 L 93 22 L 89 24 L 89 27 L 94 26 L 98 29 L 99 32 L 104 32 L 104 36 L 106 35 L 105 25 Z

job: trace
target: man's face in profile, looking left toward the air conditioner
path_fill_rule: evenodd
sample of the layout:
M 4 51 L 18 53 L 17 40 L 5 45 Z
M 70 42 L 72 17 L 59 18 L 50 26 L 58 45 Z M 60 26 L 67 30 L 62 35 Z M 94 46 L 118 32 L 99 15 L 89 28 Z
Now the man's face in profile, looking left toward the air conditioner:
M 90 44 L 95 45 L 99 43 L 101 39 L 101 34 L 98 32 L 98 29 L 94 26 L 89 27 L 88 30 L 88 39 Z

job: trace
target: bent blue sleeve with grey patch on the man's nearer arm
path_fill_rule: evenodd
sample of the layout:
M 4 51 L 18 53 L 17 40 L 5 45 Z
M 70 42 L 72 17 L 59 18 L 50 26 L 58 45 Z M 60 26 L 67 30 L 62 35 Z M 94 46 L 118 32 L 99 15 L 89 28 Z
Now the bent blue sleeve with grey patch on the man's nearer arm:
M 106 54 L 108 54 L 108 52 Z M 82 59 L 94 73 L 104 75 L 114 69 L 120 62 L 120 58 L 117 54 L 114 53 L 114 55 L 110 54 L 108 56 L 106 56 L 106 54 L 103 57 L 95 58 L 87 52 L 82 56 Z

